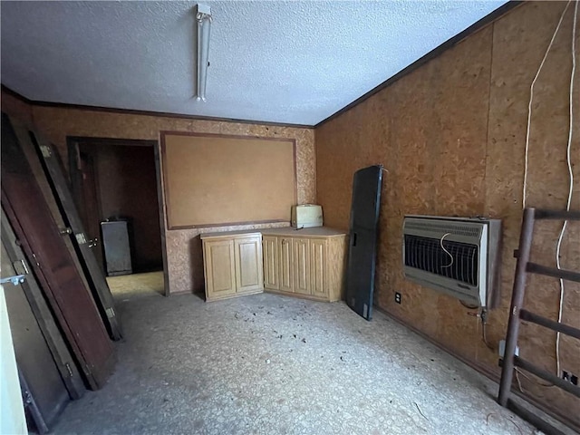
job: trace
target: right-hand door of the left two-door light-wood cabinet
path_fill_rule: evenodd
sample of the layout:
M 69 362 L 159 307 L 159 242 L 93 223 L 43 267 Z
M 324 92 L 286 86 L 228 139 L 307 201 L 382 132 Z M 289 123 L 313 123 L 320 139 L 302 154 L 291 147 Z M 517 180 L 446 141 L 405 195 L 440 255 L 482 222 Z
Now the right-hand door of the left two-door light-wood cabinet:
M 264 288 L 262 266 L 262 237 L 237 238 L 236 286 L 237 293 L 254 292 Z

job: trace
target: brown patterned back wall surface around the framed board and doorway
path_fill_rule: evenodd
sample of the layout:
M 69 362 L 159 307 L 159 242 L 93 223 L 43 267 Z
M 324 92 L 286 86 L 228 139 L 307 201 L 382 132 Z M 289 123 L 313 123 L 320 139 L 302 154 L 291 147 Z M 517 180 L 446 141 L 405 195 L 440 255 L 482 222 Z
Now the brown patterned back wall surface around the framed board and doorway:
M 5 92 L 2 92 L 2 110 L 14 114 L 23 121 L 34 122 L 37 131 L 43 133 L 58 148 L 65 165 L 68 162 L 67 136 L 160 140 L 160 131 L 194 131 L 294 139 L 296 140 L 298 203 L 314 202 L 316 185 L 313 129 L 226 121 L 198 121 L 41 106 L 29 108 Z M 220 227 L 220 229 L 226 231 L 273 226 L 275 224 Z M 199 234 L 216 230 L 216 227 L 213 227 L 166 231 L 171 293 L 203 291 L 203 260 Z

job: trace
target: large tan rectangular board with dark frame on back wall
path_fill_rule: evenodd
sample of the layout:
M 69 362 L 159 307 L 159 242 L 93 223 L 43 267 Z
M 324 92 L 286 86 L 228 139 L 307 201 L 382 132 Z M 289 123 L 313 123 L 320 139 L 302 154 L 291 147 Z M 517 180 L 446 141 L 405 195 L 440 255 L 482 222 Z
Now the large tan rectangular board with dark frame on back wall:
M 169 229 L 290 220 L 295 140 L 161 132 Z

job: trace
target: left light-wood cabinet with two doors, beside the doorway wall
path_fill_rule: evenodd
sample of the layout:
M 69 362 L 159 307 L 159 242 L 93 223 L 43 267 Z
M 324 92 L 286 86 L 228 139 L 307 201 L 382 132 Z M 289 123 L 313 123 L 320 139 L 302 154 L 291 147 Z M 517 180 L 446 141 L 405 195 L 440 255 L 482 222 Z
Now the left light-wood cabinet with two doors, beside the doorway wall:
M 201 235 L 201 239 L 207 301 L 264 290 L 262 235 L 259 232 L 209 233 Z

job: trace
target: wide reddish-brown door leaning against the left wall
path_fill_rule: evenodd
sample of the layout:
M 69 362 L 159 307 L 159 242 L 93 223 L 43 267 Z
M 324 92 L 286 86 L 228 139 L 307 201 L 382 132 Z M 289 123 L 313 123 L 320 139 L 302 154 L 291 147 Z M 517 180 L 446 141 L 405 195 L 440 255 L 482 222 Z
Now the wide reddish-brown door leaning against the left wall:
M 111 374 L 114 352 L 90 290 L 74 266 L 60 230 L 2 115 L 2 205 L 92 389 Z

